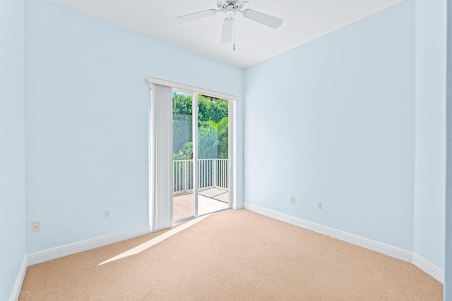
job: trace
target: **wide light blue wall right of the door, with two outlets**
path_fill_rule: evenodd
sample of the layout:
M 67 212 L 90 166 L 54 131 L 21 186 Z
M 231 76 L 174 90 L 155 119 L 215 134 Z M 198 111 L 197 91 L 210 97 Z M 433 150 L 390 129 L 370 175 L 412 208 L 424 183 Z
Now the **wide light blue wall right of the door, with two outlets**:
M 414 17 L 404 1 L 245 70 L 246 202 L 412 250 Z

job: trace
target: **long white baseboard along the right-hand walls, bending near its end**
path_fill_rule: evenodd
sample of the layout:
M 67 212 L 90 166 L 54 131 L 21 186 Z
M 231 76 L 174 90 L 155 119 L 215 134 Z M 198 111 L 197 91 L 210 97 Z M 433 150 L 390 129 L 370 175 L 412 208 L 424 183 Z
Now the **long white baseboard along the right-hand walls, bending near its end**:
M 391 245 L 386 245 L 382 242 L 377 242 L 375 240 L 369 240 L 358 235 L 353 235 L 347 232 L 339 231 L 333 228 L 319 225 L 318 223 L 312 223 L 310 221 L 304 221 L 303 219 L 298 219 L 287 214 L 281 214 L 277 211 L 266 209 L 254 204 L 244 204 L 244 208 L 250 211 L 254 211 L 258 214 L 269 216 L 273 219 L 278 219 L 279 221 L 285 221 L 286 223 L 291 223 L 292 225 L 299 226 L 301 228 L 306 228 L 308 230 L 321 233 L 323 235 L 328 235 L 332 238 L 337 238 L 338 240 L 343 240 L 345 242 L 350 242 L 353 245 L 358 245 L 359 247 L 365 247 L 366 249 L 385 254 L 396 259 L 401 259 L 405 262 L 410 262 L 415 264 L 417 267 L 422 269 L 437 281 L 444 283 L 444 271 L 439 269 L 434 264 L 428 262 L 426 259 L 420 257 L 417 254 L 413 254 L 410 251 L 400 249 L 398 247 L 393 247 Z

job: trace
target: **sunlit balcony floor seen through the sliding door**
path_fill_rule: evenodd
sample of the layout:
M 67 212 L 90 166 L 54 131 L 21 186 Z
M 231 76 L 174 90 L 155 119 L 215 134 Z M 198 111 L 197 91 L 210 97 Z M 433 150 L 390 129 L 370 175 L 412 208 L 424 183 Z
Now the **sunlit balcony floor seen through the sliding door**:
M 174 194 L 173 221 L 193 216 L 193 193 Z M 198 215 L 229 208 L 229 194 L 221 188 L 198 191 Z

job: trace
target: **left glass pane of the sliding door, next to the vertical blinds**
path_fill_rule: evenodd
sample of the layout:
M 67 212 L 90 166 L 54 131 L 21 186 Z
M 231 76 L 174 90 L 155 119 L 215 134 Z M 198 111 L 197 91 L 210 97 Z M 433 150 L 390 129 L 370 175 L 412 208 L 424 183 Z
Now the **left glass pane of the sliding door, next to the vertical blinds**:
M 194 216 L 193 113 L 191 94 L 173 91 L 173 221 Z

